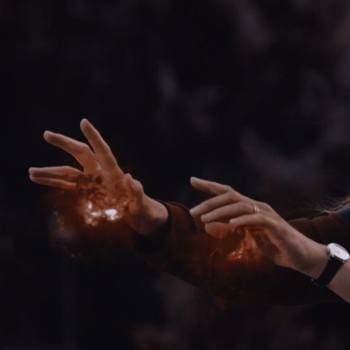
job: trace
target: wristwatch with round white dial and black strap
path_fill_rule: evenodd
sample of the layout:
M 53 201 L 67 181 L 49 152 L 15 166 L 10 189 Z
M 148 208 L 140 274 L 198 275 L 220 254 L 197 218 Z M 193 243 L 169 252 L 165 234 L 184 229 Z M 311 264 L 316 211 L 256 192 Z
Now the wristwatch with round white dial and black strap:
M 327 286 L 331 280 L 333 280 L 333 277 L 338 272 L 340 266 L 350 258 L 348 251 L 336 243 L 330 243 L 327 245 L 327 252 L 329 260 L 326 267 L 318 279 L 312 279 L 312 281 L 318 286 Z

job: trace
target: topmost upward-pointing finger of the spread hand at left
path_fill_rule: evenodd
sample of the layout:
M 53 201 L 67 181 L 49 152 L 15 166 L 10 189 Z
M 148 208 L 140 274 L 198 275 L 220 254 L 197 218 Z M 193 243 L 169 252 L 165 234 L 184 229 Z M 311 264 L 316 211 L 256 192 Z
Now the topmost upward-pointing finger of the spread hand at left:
M 87 119 L 81 121 L 80 128 L 95 151 L 97 161 L 101 164 L 102 169 L 117 178 L 121 178 L 124 173 L 118 166 L 117 160 L 108 144 L 96 128 Z

